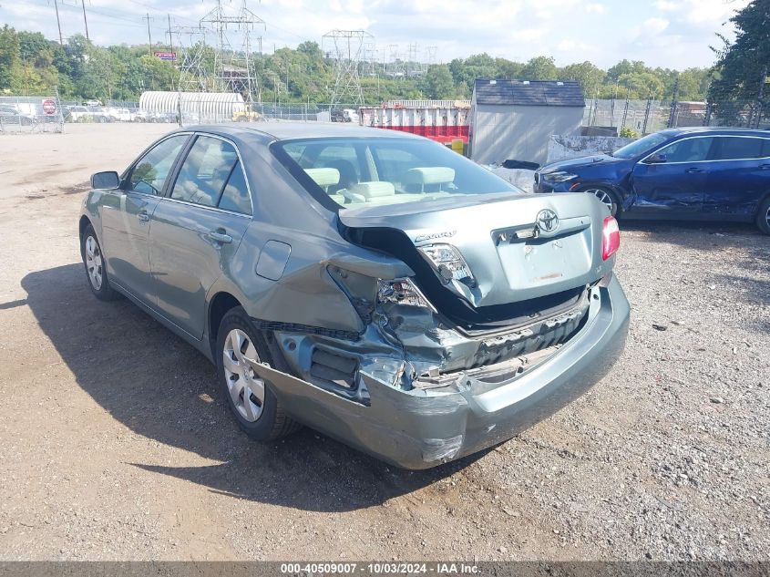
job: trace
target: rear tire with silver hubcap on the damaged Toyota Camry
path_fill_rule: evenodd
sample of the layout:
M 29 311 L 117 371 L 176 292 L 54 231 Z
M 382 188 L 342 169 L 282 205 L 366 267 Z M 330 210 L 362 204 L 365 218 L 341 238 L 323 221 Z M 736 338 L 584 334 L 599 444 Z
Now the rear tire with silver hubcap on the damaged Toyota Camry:
M 302 427 L 284 412 L 272 384 L 256 377 L 243 360 L 256 355 L 259 361 L 273 365 L 262 334 L 241 306 L 222 317 L 216 355 L 221 393 L 244 433 L 255 440 L 270 441 Z

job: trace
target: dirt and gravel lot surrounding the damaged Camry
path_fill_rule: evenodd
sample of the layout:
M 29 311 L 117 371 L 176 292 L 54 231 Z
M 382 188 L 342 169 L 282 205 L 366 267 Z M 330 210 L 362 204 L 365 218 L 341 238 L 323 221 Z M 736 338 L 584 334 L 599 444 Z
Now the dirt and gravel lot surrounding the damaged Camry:
M 611 374 L 518 438 L 389 468 L 236 428 L 214 370 L 79 262 L 88 175 L 168 126 L 0 137 L 0 559 L 767 559 L 770 238 L 622 225 Z

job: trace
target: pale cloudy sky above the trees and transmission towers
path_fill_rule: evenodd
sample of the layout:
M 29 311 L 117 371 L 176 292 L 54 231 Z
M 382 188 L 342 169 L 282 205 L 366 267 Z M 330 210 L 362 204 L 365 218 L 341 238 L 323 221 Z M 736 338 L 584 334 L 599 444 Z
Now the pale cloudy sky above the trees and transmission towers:
M 732 36 L 725 22 L 748 0 L 247 0 L 266 23 L 263 47 L 321 43 L 332 29 L 365 29 L 375 36 L 380 57 L 410 44 L 436 61 L 487 52 L 527 60 L 552 56 L 558 65 L 590 60 L 610 67 L 622 58 L 653 67 L 704 67 L 714 63 L 714 33 Z M 0 0 L 0 24 L 58 38 L 55 0 Z M 57 0 L 62 34 L 85 32 L 81 0 Z M 100 45 L 147 42 L 149 13 L 153 43 L 168 42 L 171 26 L 195 26 L 212 0 L 85 0 L 91 39 Z M 235 13 L 241 0 L 222 0 Z M 183 38 L 189 42 L 190 36 Z

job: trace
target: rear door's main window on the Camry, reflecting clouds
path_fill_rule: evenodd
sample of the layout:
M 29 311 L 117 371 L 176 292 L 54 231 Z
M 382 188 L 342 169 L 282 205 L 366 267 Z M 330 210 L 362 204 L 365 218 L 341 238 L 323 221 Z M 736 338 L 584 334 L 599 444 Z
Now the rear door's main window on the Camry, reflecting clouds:
M 217 206 L 237 162 L 238 153 L 229 142 L 199 136 L 182 163 L 171 198 Z

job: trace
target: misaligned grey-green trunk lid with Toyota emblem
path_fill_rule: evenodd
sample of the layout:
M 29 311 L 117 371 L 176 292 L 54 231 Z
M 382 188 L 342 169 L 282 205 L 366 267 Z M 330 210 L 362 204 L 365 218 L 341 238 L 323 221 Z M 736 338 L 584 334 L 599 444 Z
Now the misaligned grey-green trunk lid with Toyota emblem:
M 508 314 L 508 304 L 569 293 L 609 273 L 613 259 L 601 258 L 605 216 L 588 194 L 480 195 L 339 212 L 350 240 L 404 260 L 439 310 L 452 294 L 456 308 L 461 301 L 490 318 Z M 473 280 L 443 280 L 419 251 L 431 244 L 455 247 Z

